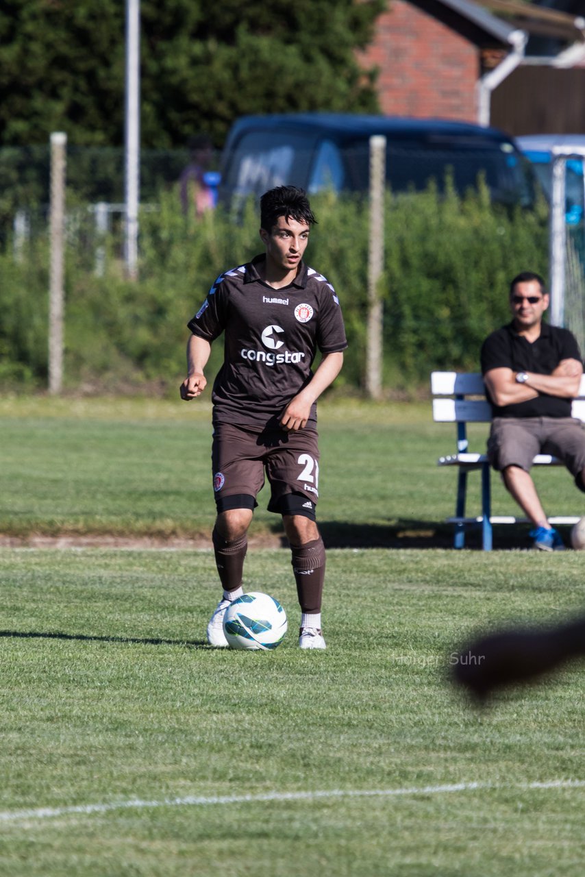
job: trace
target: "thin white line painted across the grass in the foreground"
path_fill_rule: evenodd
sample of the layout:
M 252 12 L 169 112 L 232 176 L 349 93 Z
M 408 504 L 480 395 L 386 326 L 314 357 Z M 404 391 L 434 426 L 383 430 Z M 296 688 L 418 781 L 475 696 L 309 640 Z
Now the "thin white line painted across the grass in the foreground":
M 212 804 L 241 804 L 285 801 L 318 801 L 328 798 L 392 798 L 406 795 L 446 795 L 454 792 L 474 792 L 482 789 L 490 791 L 530 791 L 546 788 L 585 788 L 585 780 L 551 780 L 546 782 L 525 782 L 516 784 L 498 784 L 491 782 L 457 782 L 444 786 L 421 786 L 415 788 L 377 788 L 377 789 L 331 789 L 316 792 L 266 792 L 260 795 L 218 795 L 196 796 L 184 798 L 163 798 L 161 801 L 130 801 L 111 802 L 109 804 L 78 804 L 71 807 L 41 807 L 31 810 L 14 810 L 0 812 L 0 823 L 15 823 L 23 820 L 52 819 L 57 816 L 71 814 L 91 815 L 92 813 L 108 813 L 111 810 L 155 809 L 160 807 L 206 807 Z

